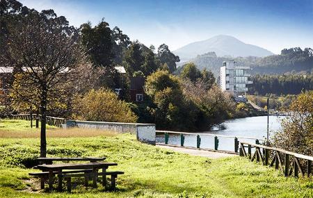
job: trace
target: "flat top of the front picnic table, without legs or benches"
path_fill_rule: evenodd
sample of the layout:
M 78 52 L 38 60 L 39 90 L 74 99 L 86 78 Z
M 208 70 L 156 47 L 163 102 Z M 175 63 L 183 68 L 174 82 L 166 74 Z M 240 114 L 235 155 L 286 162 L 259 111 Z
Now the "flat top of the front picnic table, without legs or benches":
M 118 165 L 117 163 L 66 163 L 54 165 L 38 165 L 40 170 L 75 170 L 75 169 L 90 169 L 94 167 L 102 168 Z

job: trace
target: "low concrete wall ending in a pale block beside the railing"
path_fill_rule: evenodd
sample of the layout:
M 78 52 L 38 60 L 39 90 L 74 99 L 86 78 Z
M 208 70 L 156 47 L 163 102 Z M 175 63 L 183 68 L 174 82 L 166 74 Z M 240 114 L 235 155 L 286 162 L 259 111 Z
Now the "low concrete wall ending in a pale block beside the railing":
M 65 127 L 102 129 L 116 131 L 118 133 L 131 133 L 136 135 L 137 140 L 148 143 L 150 145 L 155 145 L 155 124 L 67 120 Z

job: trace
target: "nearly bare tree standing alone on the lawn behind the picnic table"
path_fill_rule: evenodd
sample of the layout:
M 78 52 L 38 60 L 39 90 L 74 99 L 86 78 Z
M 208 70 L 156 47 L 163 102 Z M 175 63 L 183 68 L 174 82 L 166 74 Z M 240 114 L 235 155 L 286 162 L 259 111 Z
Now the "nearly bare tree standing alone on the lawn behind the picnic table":
M 1 56 L 0 64 L 15 67 L 25 82 L 20 84 L 21 89 L 33 88 L 35 93 L 31 97 L 40 101 L 40 156 L 45 157 L 47 106 L 69 92 L 66 84 L 72 81 L 74 69 L 85 59 L 78 42 L 79 31 L 69 26 L 65 17 L 57 17 L 53 10 L 41 13 L 29 10 L 27 15 L 17 16 L 9 28 L 6 42 L 9 50 Z M 20 95 L 19 99 L 27 102 L 28 97 L 29 94 Z

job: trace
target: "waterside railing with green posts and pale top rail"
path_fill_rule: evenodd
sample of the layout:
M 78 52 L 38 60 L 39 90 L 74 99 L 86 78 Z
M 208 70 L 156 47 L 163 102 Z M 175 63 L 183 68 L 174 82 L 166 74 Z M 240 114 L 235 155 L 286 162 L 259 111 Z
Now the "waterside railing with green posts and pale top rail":
M 201 136 L 211 136 L 214 137 L 214 148 L 205 148 L 205 149 L 214 149 L 218 151 L 218 147 L 220 144 L 220 138 L 233 138 L 234 139 L 234 149 L 232 150 L 235 153 L 239 153 L 239 139 L 241 140 L 255 140 L 256 144 L 260 142 L 266 142 L 266 140 L 262 138 L 250 138 L 250 137 L 242 137 L 242 136 L 230 136 L 230 135 L 217 135 L 212 133 L 185 133 L 185 132 L 177 132 L 177 131 L 156 131 L 157 134 L 164 134 L 164 143 L 168 145 L 170 134 L 179 135 L 180 138 L 180 146 L 184 147 L 185 136 L 186 135 L 195 135 L 196 145 L 195 147 L 200 149 L 201 146 Z

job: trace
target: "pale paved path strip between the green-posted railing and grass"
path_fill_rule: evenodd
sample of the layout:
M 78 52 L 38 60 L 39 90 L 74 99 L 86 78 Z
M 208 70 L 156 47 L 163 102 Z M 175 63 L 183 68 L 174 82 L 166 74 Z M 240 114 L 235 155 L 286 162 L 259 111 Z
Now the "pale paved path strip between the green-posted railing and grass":
M 232 157 L 236 156 L 236 154 L 226 154 L 222 152 L 215 152 L 215 151 L 207 151 L 207 150 L 200 150 L 195 148 L 186 148 L 186 147 L 173 147 L 168 145 L 157 145 L 157 147 L 163 149 L 170 149 L 172 151 L 177 151 L 184 154 L 189 154 L 191 156 L 202 156 L 207 158 L 225 158 L 225 157 Z

